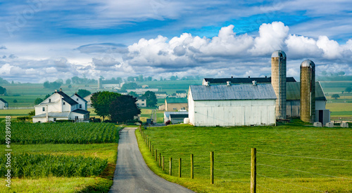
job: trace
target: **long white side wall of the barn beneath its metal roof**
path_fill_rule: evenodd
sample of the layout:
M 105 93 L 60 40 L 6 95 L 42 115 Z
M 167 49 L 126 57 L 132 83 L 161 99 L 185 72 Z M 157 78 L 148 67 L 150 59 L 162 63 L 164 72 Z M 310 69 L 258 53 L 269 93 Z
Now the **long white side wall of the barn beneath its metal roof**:
M 192 101 L 189 97 L 189 102 Z M 189 122 L 194 126 L 251 126 L 276 123 L 275 100 L 197 100 L 193 102 L 194 104 L 189 104 Z

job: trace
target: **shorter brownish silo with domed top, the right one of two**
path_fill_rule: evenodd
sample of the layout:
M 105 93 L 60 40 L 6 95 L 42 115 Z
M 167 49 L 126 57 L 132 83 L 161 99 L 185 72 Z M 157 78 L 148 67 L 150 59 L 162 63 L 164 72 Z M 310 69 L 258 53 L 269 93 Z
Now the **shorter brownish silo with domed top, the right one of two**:
M 315 64 L 311 60 L 301 63 L 300 116 L 304 122 L 315 121 Z

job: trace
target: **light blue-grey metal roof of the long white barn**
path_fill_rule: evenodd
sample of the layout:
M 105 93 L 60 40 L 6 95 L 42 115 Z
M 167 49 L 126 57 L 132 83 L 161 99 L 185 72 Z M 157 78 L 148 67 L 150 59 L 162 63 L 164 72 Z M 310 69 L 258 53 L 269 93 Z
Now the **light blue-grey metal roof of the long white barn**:
M 193 100 L 260 100 L 276 99 L 271 84 L 233 84 L 189 86 Z

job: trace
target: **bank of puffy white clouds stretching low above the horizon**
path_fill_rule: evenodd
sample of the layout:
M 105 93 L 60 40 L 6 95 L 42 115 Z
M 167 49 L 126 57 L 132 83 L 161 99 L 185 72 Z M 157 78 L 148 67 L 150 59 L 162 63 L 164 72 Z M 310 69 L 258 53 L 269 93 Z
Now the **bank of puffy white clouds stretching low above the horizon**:
M 287 75 L 299 78 L 299 65 L 310 59 L 317 72 L 344 71 L 352 75 L 352 39 L 339 44 L 327 36 L 312 38 L 290 34 L 283 22 L 260 25 L 258 35 L 237 34 L 234 25 L 222 27 L 212 38 L 183 33 L 168 39 L 139 39 L 125 46 L 115 43 L 87 44 L 74 49 L 75 56 L 56 59 L 25 59 L 8 55 L 0 59 L 0 76 L 15 81 L 43 82 L 71 76 L 97 78 L 126 77 L 137 74 L 168 77 L 194 76 L 270 76 L 270 56 L 281 49 L 287 53 Z M 72 58 L 85 58 L 84 61 Z M 39 76 L 38 76 L 39 75 Z

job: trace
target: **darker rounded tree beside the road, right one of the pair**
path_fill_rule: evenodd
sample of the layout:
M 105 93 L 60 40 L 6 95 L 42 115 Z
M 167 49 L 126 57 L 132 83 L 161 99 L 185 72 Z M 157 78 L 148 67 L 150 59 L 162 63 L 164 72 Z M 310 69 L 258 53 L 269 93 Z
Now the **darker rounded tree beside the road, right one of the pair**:
M 127 121 L 140 114 L 141 110 L 137 107 L 136 102 L 137 99 L 131 95 L 121 95 L 115 98 L 110 105 L 111 121 Z

